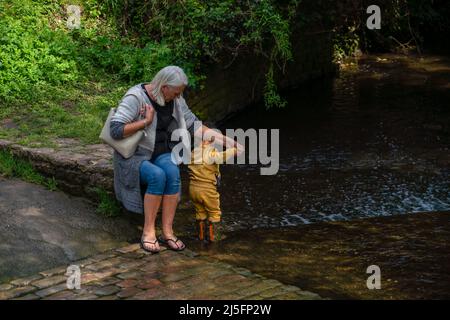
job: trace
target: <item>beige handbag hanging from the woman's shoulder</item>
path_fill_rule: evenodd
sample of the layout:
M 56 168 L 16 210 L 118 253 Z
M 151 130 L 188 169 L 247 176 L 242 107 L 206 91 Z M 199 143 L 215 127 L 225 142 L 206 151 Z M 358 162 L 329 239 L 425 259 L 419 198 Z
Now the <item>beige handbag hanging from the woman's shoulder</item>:
M 108 114 L 108 119 L 106 119 L 105 125 L 103 126 L 102 132 L 100 133 L 99 138 L 103 140 L 103 142 L 109 144 L 114 150 L 122 155 L 124 158 L 130 158 L 141 141 L 142 137 L 146 134 L 146 132 L 141 129 L 134 133 L 132 136 L 116 140 L 111 137 L 110 133 L 110 123 L 111 118 L 116 113 L 116 108 L 111 108 Z

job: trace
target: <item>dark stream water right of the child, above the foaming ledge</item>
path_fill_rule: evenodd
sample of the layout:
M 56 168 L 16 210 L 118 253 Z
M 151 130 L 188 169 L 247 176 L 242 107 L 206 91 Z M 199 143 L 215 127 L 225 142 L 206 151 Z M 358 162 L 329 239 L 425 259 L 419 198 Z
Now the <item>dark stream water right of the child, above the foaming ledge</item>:
M 280 167 L 224 165 L 228 230 L 450 210 L 450 61 L 369 56 L 220 128 L 280 129 Z

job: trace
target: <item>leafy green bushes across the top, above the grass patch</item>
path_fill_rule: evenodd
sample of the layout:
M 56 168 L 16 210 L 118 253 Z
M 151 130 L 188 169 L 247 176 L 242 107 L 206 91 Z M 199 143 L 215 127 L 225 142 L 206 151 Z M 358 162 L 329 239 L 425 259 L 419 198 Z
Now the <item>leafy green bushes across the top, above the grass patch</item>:
M 228 65 L 250 51 L 268 58 L 266 78 L 273 80 L 273 66 L 291 59 L 290 22 L 299 1 L 288 1 L 287 12 L 272 0 L 74 2 L 82 8 L 81 28 L 74 30 L 66 27 L 68 1 L 0 2 L 0 100 L 15 100 L 35 85 L 100 77 L 141 82 L 169 64 L 201 87 L 205 63 Z M 266 89 L 266 96 L 277 95 L 273 81 Z

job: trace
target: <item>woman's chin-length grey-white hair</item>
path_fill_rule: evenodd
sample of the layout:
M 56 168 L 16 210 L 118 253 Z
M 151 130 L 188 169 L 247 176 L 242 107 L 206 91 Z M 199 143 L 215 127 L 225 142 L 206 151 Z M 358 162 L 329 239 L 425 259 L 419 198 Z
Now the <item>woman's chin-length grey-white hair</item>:
M 167 66 L 158 71 L 151 84 L 153 85 L 152 94 L 156 98 L 156 102 L 164 106 L 166 102 L 161 92 L 161 87 L 164 85 L 170 87 L 187 86 L 188 80 L 183 69 L 177 66 Z

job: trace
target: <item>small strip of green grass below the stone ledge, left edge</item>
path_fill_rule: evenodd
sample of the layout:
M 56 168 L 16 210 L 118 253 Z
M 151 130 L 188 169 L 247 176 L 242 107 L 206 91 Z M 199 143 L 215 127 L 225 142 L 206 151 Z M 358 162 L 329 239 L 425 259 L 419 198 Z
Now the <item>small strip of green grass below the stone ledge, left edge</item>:
M 30 162 L 16 158 L 11 152 L 0 151 L 0 174 L 5 177 L 17 177 L 22 180 L 37 183 L 47 187 L 49 190 L 56 190 L 56 180 L 46 178 L 39 174 Z

